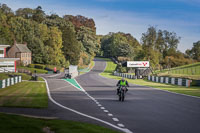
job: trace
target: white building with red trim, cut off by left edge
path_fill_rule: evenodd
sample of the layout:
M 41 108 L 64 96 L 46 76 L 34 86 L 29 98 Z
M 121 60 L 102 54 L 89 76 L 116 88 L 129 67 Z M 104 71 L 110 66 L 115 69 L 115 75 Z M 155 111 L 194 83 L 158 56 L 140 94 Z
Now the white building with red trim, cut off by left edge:
M 16 72 L 18 58 L 6 58 L 6 48 L 10 45 L 0 45 L 0 72 Z

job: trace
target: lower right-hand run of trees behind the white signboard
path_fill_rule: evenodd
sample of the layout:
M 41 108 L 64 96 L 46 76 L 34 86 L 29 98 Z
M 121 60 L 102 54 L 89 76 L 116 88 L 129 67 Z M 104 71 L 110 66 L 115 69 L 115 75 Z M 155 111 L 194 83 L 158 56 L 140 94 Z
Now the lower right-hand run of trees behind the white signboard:
M 177 50 L 180 37 L 175 32 L 157 30 L 150 26 L 142 34 L 140 42 L 132 35 L 122 32 L 109 33 L 101 38 L 103 56 L 115 57 L 118 61 L 146 60 L 154 69 L 176 67 L 200 61 L 200 41 L 191 50 Z

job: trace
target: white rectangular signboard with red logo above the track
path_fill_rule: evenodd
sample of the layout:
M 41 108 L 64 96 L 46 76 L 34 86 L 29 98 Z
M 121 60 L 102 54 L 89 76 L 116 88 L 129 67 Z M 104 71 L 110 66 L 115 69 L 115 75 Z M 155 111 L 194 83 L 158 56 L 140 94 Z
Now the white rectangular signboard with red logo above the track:
M 149 67 L 149 61 L 127 61 L 127 67 Z

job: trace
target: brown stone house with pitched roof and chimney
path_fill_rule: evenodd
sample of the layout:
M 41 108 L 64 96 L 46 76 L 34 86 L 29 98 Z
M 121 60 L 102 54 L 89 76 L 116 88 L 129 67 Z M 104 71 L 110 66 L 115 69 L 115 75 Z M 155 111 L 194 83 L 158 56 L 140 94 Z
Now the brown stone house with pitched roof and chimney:
M 17 65 L 27 66 L 31 64 L 32 53 L 28 49 L 27 44 L 17 44 L 15 43 L 7 52 L 9 58 L 20 58 L 17 61 Z

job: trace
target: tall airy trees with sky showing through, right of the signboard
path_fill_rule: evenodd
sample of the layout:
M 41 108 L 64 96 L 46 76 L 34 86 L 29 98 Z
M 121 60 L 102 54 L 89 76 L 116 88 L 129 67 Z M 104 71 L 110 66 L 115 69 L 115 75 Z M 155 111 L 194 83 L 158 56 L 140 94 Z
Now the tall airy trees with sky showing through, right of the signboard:
M 151 67 L 162 69 L 176 67 L 191 63 L 191 59 L 185 58 L 184 54 L 177 50 L 180 37 L 174 32 L 157 30 L 149 27 L 142 34 L 141 43 L 143 51 L 140 52 L 140 60 L 149 60 Z

